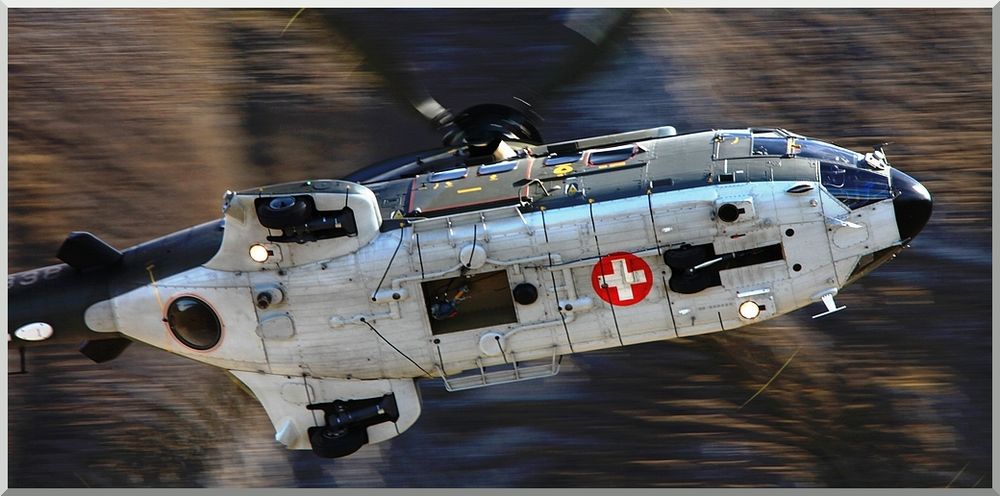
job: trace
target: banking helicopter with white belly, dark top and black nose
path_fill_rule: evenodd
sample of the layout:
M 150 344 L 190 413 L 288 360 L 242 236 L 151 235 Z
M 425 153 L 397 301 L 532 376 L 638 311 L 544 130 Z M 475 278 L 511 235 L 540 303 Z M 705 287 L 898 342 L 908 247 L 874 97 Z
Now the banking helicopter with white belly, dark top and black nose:
M 546 143 L 513 107 L 406 99 L 441 148 L 228 191 L 222 219 L 121 251 L 72 233 L 62 264 L 8 278 L 9 346 L 104 362 L 140 341 L 223 368 L 276 441 L 335 458 L 412 426 L 418 379 L 532 380 L 567 354 L 841 311 L 932 209 L 882 146 L 671 126 Z

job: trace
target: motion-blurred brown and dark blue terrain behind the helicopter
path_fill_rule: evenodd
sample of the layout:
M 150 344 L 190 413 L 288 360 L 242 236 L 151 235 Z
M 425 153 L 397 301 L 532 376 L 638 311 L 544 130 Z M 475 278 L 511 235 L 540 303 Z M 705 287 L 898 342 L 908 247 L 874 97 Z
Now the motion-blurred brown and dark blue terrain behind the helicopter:
M 125 248 L 219 217 L 227 189 L 436 146 L 350 30 L 453 110 L 531 101 L 550 142 L 667 124 L 889 141 L 934 215 L 846 311 L 573 355 L 542 381 L 427 381 L 413 428 L 346 459 L 284 450 L 222 371 L 29 350 L 11 487 L 992 486 L 988 10 L 638 10 L 545 92 L 566 25 L 608 12 L 307 9 L 283 32 L 295 13 L 10 10 L 10 271 L 56 263 L 72 230 Z

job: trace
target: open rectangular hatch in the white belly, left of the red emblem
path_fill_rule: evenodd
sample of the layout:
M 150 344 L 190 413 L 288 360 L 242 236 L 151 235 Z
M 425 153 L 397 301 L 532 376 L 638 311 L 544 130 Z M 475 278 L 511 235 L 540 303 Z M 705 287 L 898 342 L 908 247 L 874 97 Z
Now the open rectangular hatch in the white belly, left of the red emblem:
M 507 271 L 421 283 L 433 334 L 517 322 Z

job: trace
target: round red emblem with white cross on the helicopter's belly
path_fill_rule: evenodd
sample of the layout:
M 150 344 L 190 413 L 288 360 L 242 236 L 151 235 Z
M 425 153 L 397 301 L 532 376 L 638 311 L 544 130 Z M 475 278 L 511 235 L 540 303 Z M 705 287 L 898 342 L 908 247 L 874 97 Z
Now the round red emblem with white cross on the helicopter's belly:
M 602 300 L 627 307 L 642 301 L 653 289 L 653 271 L 645 260 L 616 252 L 601 257 L 594 265 L 590 282 Z

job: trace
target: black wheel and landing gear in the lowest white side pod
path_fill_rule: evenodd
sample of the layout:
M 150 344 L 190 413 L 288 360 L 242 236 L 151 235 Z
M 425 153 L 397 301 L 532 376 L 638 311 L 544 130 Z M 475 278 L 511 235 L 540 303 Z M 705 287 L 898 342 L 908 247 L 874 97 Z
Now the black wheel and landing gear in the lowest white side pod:
M 309 428 L 313 453 L 323 458 L 350 455 L 368 443 L 368 427 L 399 420 L 396 399 L 387 394 L 381 398 L 337 400 L 306 406 L 322 410 L 326 425 Z

